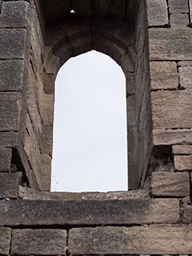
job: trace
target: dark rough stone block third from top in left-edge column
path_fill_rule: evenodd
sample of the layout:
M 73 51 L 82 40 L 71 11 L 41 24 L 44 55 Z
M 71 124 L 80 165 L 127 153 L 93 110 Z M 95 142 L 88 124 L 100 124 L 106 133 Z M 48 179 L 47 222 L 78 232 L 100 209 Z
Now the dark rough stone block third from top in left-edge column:
M 21 91 L 24 73 L 24 61 L 0 61 L 0 91 Z

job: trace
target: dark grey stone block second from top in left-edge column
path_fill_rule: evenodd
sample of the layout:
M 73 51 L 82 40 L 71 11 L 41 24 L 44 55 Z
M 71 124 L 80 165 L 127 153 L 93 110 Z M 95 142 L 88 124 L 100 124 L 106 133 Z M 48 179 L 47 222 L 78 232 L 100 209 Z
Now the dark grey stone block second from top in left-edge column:
M 0 59 L 25 58 L 26 29 L 0 29 Z

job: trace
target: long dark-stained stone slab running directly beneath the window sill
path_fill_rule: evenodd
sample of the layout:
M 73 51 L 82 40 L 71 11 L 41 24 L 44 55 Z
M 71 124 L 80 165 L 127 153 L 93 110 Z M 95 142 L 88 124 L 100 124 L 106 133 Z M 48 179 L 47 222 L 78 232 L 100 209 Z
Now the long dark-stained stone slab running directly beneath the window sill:
M 0 202 L 0 225 L 122 225 L 179 222 L 178 199 Z

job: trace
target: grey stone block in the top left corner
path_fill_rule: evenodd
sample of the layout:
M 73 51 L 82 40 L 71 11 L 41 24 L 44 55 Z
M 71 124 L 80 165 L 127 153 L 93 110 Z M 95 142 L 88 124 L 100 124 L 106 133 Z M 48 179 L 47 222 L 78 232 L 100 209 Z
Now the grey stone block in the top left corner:
M 26 1 L 10 1 L 2 3 L 0 28 L 25 27 L 30 24 L 30 3 Z

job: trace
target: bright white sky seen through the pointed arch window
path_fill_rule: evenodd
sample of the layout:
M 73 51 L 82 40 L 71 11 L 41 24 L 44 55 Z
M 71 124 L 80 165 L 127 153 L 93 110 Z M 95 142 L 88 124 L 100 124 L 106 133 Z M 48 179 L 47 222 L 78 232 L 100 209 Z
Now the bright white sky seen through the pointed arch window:
M 52 191 L 127 190 L 126 79 L 105 54 L 70 58 L 54 105 Z

